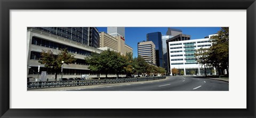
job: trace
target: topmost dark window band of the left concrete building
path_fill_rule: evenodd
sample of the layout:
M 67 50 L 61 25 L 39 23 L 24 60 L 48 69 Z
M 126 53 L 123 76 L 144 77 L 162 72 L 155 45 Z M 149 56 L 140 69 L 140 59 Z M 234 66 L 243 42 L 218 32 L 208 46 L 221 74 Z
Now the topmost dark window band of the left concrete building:
M 82 49 L 78 49 L 75 47 L 70 47 L 70 46 L 66 46 L 66 45 L 62 45 L 62 44 L 57 44 L 54 43 L 52 41 L 47 41 L 47 40 L 43 40 L 43 39 L 39 39 L 36 37 L 32 38 L 32 44 L 34 45 L 38 45 L 38 46 L 43 46 L 43 47 L 49 47 L 49 48 L 54 48 L 54 49 L 65 49 L 67 48 L 68 52 L 70 53 L 77 53 L 77 54 L 81 54 L 81 55 L 90 55 L 91 52 L 86 51 L 86 50 L 82 50 Z

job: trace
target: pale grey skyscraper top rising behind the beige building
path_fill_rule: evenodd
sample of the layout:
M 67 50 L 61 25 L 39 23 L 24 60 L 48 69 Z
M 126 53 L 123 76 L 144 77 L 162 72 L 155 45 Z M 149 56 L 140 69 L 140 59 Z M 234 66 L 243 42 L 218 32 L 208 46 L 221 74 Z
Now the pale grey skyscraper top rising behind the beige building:
M 124 27 L 108 27 L 107 33 L 113 37 L 116 37 L 116 36 L 125 37 Z

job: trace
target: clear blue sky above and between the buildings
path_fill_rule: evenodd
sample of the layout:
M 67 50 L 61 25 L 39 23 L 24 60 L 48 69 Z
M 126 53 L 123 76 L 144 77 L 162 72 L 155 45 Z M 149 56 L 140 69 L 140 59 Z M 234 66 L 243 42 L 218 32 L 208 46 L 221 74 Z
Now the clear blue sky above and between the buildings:
M 107 27 L 97 27 L 99 32 L 107 32 Z M 220 27 L 171 27 L 182 30 L 183 34 L 190 35 L 191 40 L 204 38 L 217 33 Z M 168 27 L 125 27 L 125 44 L 133 48 L 133 57 L 138 56 L 138 42 L 147 40 L 147 33 L 161 32 L 166 35 Z

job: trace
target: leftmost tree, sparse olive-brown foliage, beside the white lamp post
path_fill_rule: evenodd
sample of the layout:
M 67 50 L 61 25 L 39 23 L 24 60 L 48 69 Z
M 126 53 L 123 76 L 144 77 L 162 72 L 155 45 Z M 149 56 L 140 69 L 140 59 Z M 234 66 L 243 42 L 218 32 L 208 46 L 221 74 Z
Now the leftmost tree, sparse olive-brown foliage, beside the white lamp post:
M 76 58 L 74 54 L 68 53 L 67 49 L 61 50 L 58 55 L 54 55 L 52 51 L 42 50 L 41 58 L 38 61 L 41 64 L 44 64 L 46 68 L 51 68 L 55 73 L 55 81 L 57 81 L 57 71 L 61 69 L 62 61 L 65 64 L 75 63 Z

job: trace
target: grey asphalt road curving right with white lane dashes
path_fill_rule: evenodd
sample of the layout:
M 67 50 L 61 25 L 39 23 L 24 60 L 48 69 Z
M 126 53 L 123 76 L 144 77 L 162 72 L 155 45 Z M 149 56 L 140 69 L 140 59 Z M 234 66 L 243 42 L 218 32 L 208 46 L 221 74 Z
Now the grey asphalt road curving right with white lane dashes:
M 130 82 L 79 88 L 76 91 L 228 91 L 229 83 L 199 77 L 166 77 L 163 80 Z M 74 90 L 73 90 L 74 91 Z

